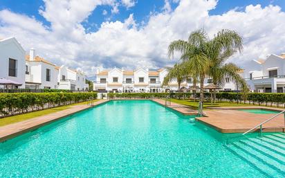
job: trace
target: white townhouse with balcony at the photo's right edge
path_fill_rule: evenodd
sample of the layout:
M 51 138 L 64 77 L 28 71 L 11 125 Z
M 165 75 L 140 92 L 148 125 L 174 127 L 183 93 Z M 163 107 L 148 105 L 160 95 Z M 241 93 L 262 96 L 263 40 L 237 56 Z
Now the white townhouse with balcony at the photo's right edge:
M 252 60 L 243 72 L 250 91 L 259 93 L 285 92 L 285 53 L 271 54 L 266 60 Z

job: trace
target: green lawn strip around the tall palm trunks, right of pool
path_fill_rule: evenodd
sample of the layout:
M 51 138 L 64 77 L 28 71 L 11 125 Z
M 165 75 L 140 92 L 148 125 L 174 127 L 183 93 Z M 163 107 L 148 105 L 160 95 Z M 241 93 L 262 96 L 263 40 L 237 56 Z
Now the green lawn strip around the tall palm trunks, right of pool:
M 178 100 L 178 99 L 171 99 L 172 102 L 174 103 L 178 103 L 181 105 L 187 105 L 192 107 L 193 109 L 198 109 L 198 105 L 199 105 L 199 101 L 197 100 L 196 102 L 194 102 L 194 100 Z M 211 104 L 211 102 L 209 101 L 205 101 L 203 103 L 203 107 L 205 109 L 207 109 L 208 107 L 236 107 L 236 106 L 250 106 L 249 104 L 237 104 L 237 103 L 213 103 Z

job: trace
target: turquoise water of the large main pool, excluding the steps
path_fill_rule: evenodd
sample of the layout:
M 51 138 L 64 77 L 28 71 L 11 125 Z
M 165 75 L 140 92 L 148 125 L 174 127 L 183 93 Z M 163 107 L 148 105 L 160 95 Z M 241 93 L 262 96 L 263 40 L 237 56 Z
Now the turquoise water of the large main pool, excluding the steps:
M 264 177 L 189 118 L 111 101 L 0 143 L 0 177 Z

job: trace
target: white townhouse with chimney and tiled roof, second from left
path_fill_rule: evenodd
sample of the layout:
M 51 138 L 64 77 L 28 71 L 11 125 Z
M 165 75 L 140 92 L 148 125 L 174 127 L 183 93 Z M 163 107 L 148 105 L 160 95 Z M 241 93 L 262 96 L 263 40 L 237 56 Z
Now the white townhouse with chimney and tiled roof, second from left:
M 26 89 L 57 89 L 58 69 L 55 64 L 35 55 L 30 49 L 26 55 Z

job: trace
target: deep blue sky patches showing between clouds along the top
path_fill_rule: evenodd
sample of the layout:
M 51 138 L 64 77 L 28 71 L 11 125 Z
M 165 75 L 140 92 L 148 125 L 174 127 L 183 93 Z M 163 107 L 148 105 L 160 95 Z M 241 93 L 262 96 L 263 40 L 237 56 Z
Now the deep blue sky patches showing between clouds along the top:
M 178 3 L 175 1 L 170 3 L 172 9 L 175 9 Z M 221 15 L 228 10 L 232 10 L 237 8 L 237 10 L 244 10 L 244 8 L 248 5 L 257 5 L 260 4 L 262 7 L 268 6 L 269 4 L 277 5 L 285 9 L 285 0 L 219 0 L 216 8 L 210 10 L 210 15 Z M 130 13 L 134 14 L 136 22 L 146 23 L 149 19 L 150 13 L 161 12 L 163 10 L 163 6 L 165 5 L 164 0 L 136 0 L 136 6 L 131 8 L 126 8 L 124 6 L 119 6 L 118 14 L 111 14 L 111 6 L 103 5 L 95 8 L 93 13 L 86 19 L 86 21 L 82 22 L 82 25 L 86 28 L 86 32 L 96 31 L 100 27 L 100 24 L 104 21 L 123 21 L 129 17 Z M 12 12 L 21 13 L 24 15 L 28 15 L 30 17 L 35 17 L 38 21 L 42 21 L 45 26 L 50 26 L 50 23 L 39 15 L 39 8 L 44 7 L 44 1 L 42 0 L 1 0 L 0 1 L 0 10 L 9 9 Z M 103 15 L 103 11 L 107 11 L 107 15 Z

